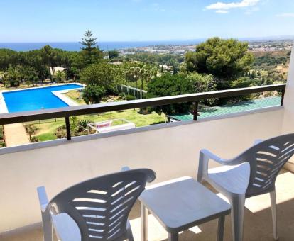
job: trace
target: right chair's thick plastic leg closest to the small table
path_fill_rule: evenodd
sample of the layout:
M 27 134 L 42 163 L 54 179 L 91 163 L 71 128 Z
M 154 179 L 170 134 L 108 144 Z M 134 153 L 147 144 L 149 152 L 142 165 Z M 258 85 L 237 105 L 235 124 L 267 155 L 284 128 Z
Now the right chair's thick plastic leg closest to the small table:
M 231 201 L 232 235 L 234 241 L 243 240 L 245 195 L 232 197 Z

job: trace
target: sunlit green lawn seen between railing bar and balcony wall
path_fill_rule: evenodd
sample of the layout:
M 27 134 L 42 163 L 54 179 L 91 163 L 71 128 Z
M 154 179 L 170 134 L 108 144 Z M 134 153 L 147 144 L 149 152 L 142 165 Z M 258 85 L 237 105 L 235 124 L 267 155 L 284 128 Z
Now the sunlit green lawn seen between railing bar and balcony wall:
M 135 123 L 136 127 L 146 126 L 146 125 L 154 125 L 158 123 L 165 123 L 166 117 L 164 114 L 159 116 L 157 113 L 153 112 L 151 114 L 142 115 L 138 113 L 138 109 L 136 110 L 127 110 L 124 112 L 112 112 L 112 113 L 103 113 L 103 114 L 95 114 L 95 115 L 87 115 L 87 116 L 77 116 L 78 120 L 91 120 L 91 122 L 99 122 L 104 120 L 114 120 L 123 118 Z M 27 123 L 30 124 L 30 123 Z M 53 119 L 53 120 L 45 120 L 45 123 L 32 122 L 31 124 L 36 125 L 38 130 L 36 134 L 33 135 L 38 138 L 40 141 L 45 140 L 55 140 L 57 139 L 54 135 L 56 128 L 59 126 L 65 125 L 65 120 L 63 118 Z

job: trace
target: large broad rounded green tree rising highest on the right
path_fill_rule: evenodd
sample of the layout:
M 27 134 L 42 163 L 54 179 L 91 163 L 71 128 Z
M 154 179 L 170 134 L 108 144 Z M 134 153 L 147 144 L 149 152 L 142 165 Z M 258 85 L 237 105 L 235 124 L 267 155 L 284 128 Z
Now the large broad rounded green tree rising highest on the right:
M 187 52 L 187 71 L 213 74 L 218 79 L 230 81 L 248 72 L 254 56 L 248 43 L 239 40 L 210 38 L 196 46 L 196 52 Z

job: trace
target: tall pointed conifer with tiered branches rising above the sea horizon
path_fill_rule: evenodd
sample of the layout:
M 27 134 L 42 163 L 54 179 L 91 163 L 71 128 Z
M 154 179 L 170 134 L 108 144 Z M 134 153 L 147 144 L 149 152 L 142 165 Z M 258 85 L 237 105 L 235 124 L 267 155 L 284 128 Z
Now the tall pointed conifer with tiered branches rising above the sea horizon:
M 91 65 L 103 57 L 103 53 L 99 50 L 96 40 L 97 38 L 93 37 L 92 31 L 87 30 L 84 34 L 84 38 L 82 38 L 80 42 L 80 44 L 84 46 L 81 49 L 85 58 L 85 65 Z

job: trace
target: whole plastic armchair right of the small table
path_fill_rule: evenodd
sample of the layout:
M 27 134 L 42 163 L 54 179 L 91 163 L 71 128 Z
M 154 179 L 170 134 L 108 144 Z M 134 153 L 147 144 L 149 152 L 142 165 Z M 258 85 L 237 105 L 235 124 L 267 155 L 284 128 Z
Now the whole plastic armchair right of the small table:
M 273 238 L 278 240 L 275 182 L 284 164 L 294 154 L 294 134 L 261 141 L 234 159 L 222 159 L 208 150 L 200 151 L 197 181 L 203 180 L 227 196 L 232 205 L 232 232 L 243 239 L 244 204 L 251 196 L 269 193 L 273 218 Z M 222 167 L 208 169 L 209 159 Z

